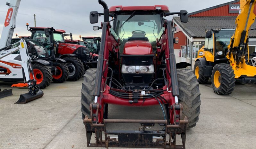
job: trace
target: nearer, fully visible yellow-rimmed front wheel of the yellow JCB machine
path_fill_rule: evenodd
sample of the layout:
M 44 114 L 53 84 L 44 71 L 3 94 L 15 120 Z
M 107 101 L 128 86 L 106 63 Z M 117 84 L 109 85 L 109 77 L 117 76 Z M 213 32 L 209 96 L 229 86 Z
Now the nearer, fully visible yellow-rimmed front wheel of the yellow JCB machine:
M 217 64 L 213 67 L 211 86 L 218 95 L 228 95 L 232 93 L 235 87 L 235 74 L 229 64 Z

